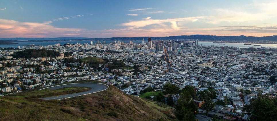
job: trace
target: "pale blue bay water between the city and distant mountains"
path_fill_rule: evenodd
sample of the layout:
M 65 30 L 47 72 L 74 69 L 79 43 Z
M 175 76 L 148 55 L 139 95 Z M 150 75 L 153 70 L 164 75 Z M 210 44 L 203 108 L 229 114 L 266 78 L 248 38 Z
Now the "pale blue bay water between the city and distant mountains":
M 99 41 L 101 43 L 103 43 L 104 41 Z M 106 43 L 110 43 L 110 42 L 114 42 L 114 41 L 106 41 Z M 122 42 L 122 41 L 121 41 Z M 124 43 L 129 43 L 130 41 L 123 41 Z M 142 41 L 133 41 L 133 43 L 141 43 Z M 2 48 L 8 48 L 8 47 L 13 47 L 13 48 L 17 48 L 18 46 L 22 47 L 24 45 L 29 45 L 29 44 L 35 44 L 35 45 L 42 45 L 42 46 L 47 46 L 47 45 L 55 45 L 57 43 L 64 45 L 66 43 L 70 43 L 70 44 L 77 44 L 77 43 L 88 43 L 90 44 L 90 41 L 51 41 L 51 42 L 15 42 L 15 43 L 19 43 L 20 45 L 0 45 L 0 47 Z M 93 41 L 93 43 L 97 43 L 97 41 Z M 239 48 L 248 48 L 248 47 L 255 47 L 255 48 L 261 48 L 261 47 L 270 47 L 270 48 L 277 48 L 277 44 L 252 44 L 252 45 L 244 45 L 245 43 L 224 43 L 225 45 L 219 45 L 218 43 L 212 43 L 212 42 L 199 42 L 199 46 L 203 45 L 203 46 L 210 46 L 210 45 L 214 45 L 214 46 L 235 46 L 235 47 L 239 47 Z M 254 46 L 254 45 L 261 45 L 261 46 Z

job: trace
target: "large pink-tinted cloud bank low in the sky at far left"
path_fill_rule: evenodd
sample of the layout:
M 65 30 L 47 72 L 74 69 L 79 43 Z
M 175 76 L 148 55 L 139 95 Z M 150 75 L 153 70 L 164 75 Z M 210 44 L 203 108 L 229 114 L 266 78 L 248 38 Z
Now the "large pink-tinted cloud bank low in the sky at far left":
M 67 34 L 80 34 L 85 29 L 58 28 L 46 23 L 19 22 L 0 19 L 0 37 L 60 37 Z

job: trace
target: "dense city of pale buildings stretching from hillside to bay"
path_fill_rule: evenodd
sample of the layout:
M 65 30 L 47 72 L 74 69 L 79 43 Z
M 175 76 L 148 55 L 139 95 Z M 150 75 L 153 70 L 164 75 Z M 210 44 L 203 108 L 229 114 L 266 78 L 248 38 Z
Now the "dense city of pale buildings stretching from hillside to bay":
M 268 108 L 259 98 L 274 100 L 276 114 L 276 48 L 144 39 L 1 48 L 0 96 L 95 80 L 175 107 L 179 120 L 258 120 Z

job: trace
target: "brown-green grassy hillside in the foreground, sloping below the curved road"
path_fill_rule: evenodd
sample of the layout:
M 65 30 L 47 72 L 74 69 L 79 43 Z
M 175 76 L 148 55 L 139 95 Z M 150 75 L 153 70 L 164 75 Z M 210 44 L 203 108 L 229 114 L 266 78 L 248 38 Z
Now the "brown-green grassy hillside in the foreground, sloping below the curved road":
M 114 86 L 102 92 L 63 100 L 0 97 L 0 120 L 158 121 L 176 120 L 174 117 L 170 106 L 127 95 Z

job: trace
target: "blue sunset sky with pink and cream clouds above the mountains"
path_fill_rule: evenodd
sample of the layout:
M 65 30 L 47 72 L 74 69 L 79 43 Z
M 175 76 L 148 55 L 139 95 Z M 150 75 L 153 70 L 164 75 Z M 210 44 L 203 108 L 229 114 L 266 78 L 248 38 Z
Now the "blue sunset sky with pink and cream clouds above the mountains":
M 0 38 L 260 37 L 276 20 L 276 0 L 0 0 Z

